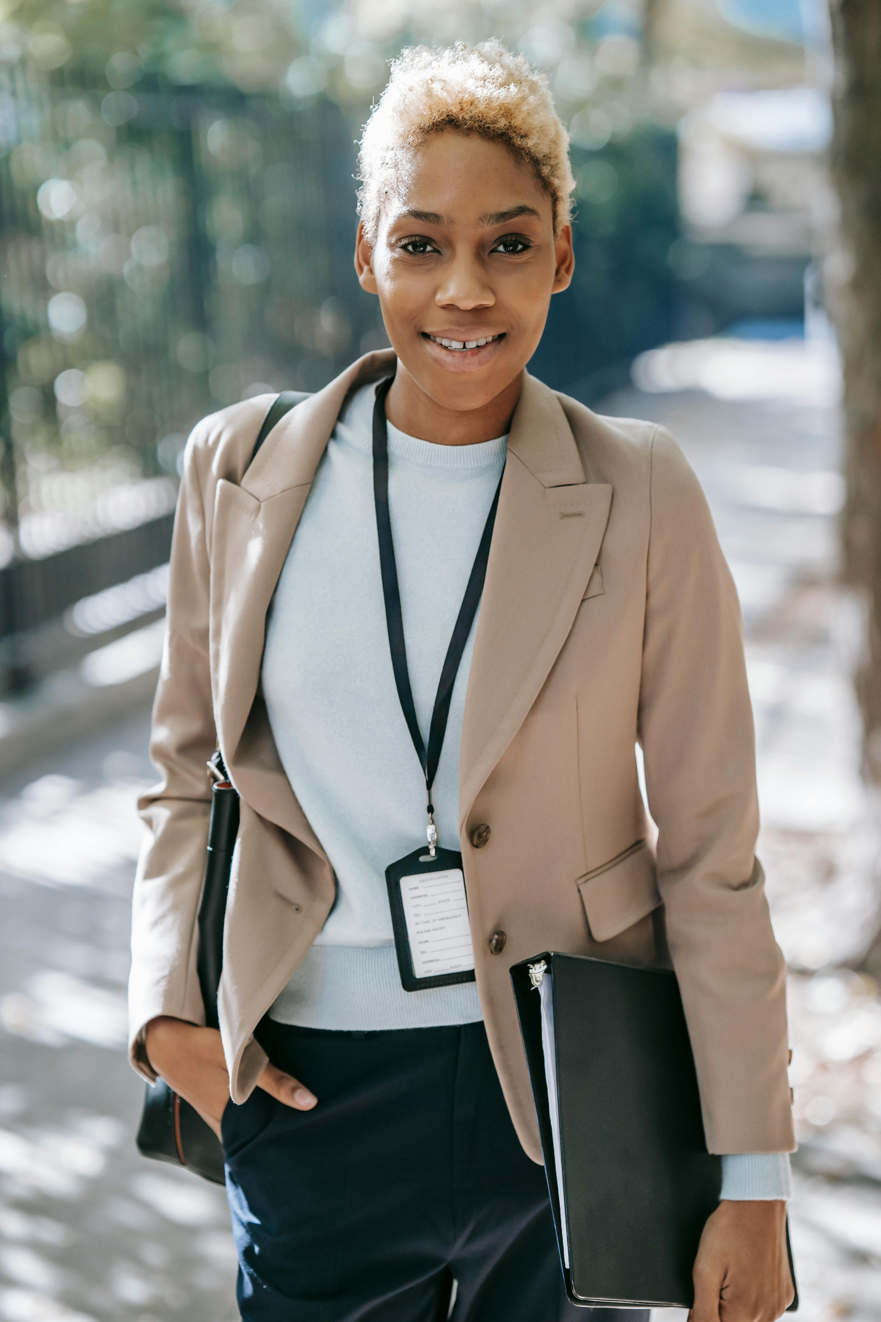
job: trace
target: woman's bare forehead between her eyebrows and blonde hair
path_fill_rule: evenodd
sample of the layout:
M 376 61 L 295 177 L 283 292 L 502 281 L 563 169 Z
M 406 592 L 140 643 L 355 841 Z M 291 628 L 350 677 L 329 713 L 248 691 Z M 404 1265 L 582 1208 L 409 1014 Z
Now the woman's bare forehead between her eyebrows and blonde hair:
M 532 208 L 552 225 L 552 204 L 531 165 L 498 140 L 456 130 L 429 135 L 404 152 L 383 218 L 433 213 L 456 225 Z

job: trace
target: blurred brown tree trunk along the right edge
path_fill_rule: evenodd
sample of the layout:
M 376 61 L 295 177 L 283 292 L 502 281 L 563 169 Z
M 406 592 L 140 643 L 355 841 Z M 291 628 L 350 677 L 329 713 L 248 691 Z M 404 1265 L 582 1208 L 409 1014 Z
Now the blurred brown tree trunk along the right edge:
M 881 781 L 881 3 L 831 0 L 831 165 L 840 201 L 833 316 L 844 360 L 844 564 L 868 603 L 857 674 L 864 767 Z

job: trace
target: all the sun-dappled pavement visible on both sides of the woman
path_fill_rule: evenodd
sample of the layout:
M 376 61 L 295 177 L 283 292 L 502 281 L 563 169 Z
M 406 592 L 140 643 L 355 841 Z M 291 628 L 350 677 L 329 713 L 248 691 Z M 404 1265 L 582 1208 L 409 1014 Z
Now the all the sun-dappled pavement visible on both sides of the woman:
M 647 356 L 637 379 L 604 407 L 678 435 L 744 603 L 761 857 L 793 968 L 802 1317 L 881 1319 L 881 1005 L 848 969 L 878 908 L 878 828 L 849 682 L 859 608 L 836 584 L 835 365 L 715 341 Z M 236 1315 L 222 1190 L 132 1142 L 141 1085 L 122 1044 L 147 727 L 143 705 L 66 727 L 0 781 L 0 1322 Z

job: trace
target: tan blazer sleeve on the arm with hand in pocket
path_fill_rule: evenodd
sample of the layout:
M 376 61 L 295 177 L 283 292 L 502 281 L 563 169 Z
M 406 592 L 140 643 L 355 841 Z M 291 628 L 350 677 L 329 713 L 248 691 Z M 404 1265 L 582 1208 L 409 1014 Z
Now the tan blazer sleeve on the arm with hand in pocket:
M 172 535 L 166 631 L 153 705 L 151 759 L 160 783 L 139 800 L 147 826 L 132 896 L 128 985 L 129 1052 L 155 1079 L 143 1043 L 147 1023 L 168 1014 L 205 1023 L 195 970 L 197 915 L 205 874 L 215 748 L 209 665 L 209 553 L 203 477 L 206 423 L 190 436 Z

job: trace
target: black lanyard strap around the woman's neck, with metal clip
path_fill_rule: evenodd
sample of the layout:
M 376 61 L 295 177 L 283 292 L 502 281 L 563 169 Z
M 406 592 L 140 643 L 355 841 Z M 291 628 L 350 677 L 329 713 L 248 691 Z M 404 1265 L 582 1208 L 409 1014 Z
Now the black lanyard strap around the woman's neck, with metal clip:
M 416 719 L 413 705 L 413 691 L 409 686 L 409 670 L 407 669 L 407 646 L 404 642 L 404 621 L 400 612 L 400 588 L 398 586 L 398 568 L 395 564 L 395 546 L 391 537 L 391 518 L 388 517 L 388 431 L 386 427 L 386 395 L 391 387 L 394 377 L 383 381 L 376 387 L 376 403 L 374 406 L 374 502 L 376 505 L 376 533 L 379 534 L 379 566 L 383 580 L 383 598 L 386 600 L 386 624 L 388 627 L 388 648 L 391 650 L 391 664 L 395 672 L 395 685 L 398 697 L 404 713 L 409 738 L 413 740 L 416 756 L 425 776 L 425 796 L 428 801 L 428 845 L 431 857 L 435 857 L 437 845 L 437 830 L 435 828 L 435 805 L 432 804 L 432 785 L 437 775 L 444 735 L 446 734 L 446 720 L 449 705 L 453 697 L 453 685 L 458 666 L 465 652 L 468 636 L 477 615 L 483 580 L 486 578 L 486 564 L 490 558 L 490 542 L 493 541 L 493 525 L 495 524 L 495 510 L 498 509 L 502 479 L 495 488 L 495 496 L 490 505 L 490 512 L 483 526 L 481 545 L 474 557 L 472 574 L 465 588 L 465 596 L 460 607 L 458 619 L 449 640 L 444 666 L 441 669 L 432 723 L 428 731 L 428 748 L 423 742 L 423 735 Z M 502 475 L 505 476 L 505 475 Z M 431 583 L 425 584 L 427 591 Z

